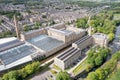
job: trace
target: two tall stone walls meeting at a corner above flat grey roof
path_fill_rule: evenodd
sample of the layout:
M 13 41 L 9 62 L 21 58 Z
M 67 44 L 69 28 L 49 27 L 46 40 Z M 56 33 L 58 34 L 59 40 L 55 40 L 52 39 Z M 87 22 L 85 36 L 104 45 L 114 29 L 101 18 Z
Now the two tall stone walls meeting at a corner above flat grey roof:
M 72 43 L 76 40 L 78 40 L 79 38 L 83 37 L 86 34 L 86 31 L 78 31 L 78 32 L 69 32 L 69 33 L 65 33 L 61 30 L 57 30 L 57 29 L 53 29 L 53 28 L 49 28 L 48 29 L 48 35 L 52 36 L 58 40 L 62 40 L 64 43 Z

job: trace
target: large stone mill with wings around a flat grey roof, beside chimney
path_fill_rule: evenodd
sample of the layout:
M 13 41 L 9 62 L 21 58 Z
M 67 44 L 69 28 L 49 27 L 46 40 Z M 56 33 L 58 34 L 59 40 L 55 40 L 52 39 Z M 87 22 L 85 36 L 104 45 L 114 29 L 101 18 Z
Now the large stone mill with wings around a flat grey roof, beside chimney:
M 21 39 L 37 47 L 41 53 L 48 57 L 85 35 L 86 30 L 76 27 L 66 27 L 63 23 L 60 23 L 21 34 Z

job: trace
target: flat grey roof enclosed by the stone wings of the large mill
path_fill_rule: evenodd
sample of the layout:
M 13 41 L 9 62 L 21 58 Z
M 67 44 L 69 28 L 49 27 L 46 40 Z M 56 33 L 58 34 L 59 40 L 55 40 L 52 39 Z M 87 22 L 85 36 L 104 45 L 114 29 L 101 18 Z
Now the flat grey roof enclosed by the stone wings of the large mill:
M 28 40 L 31 44 L 47 52 L 64 44 L 63 41 L 49 37 L 48 35 L 39 35 Z

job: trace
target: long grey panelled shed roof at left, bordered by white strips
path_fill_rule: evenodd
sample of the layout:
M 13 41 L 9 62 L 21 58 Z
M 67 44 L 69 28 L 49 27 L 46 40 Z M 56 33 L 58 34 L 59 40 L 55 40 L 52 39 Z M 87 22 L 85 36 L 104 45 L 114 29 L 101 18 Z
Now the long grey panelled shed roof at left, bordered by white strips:
M 23 57 L 36 52 L 36 49 L 31 45 L 23 44 L 18 47 L 0 52 L 0 59 L 4 65 L 8 65 L 14 61 L 17 61 Z

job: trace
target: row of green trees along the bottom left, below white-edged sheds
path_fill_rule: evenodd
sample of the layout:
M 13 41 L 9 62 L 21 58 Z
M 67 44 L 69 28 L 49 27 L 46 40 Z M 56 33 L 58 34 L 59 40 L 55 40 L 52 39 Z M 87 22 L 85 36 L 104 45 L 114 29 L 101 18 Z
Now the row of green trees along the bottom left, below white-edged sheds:
M 44 66 L 45 67 L 45 66 Z M 27 76 L 40 71 L 40 63 L 33 62 L 22 69 L 10 71 L 3 75 L 3 80 L 24 80 Z

